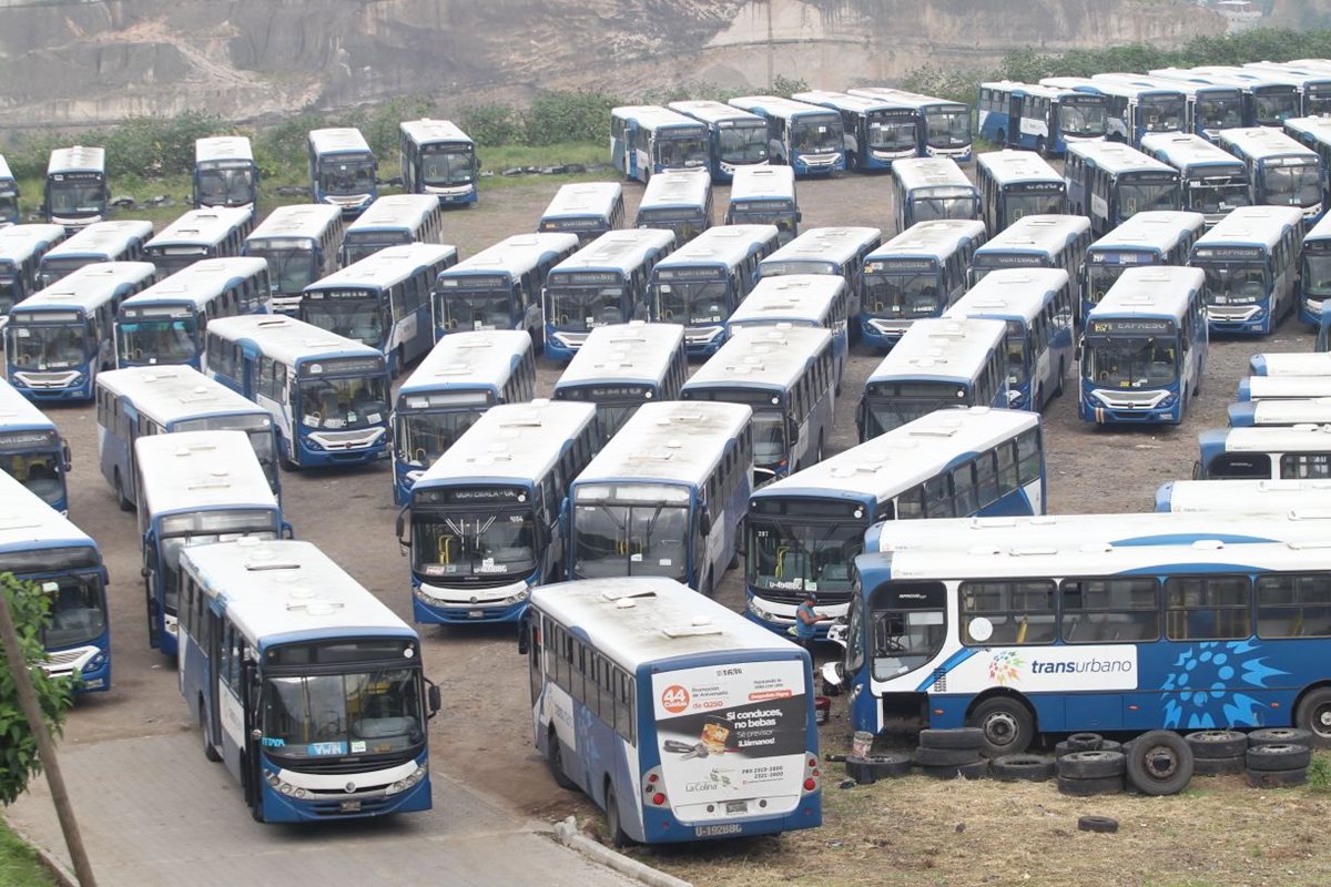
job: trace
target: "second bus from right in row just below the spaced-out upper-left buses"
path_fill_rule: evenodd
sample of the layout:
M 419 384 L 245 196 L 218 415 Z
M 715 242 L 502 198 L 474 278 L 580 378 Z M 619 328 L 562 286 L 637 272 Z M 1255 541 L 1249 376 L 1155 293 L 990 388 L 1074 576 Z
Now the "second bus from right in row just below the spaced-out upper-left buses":
M 338 269 L 342 210 L 327 203 L 278 206 L 250 231 L 241 255 L 268 262 L 273 311 L 297 315 L 310 283 Z

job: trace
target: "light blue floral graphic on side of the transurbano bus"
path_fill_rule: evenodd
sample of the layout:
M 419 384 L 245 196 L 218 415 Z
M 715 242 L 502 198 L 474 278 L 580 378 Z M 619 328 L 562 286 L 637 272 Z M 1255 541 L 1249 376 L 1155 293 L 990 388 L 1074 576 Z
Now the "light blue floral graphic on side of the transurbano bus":
M 1213 729 L 1262 726 L 1264 706 L 1243 688 L 1266 689 L 1280 674 L 1248 641 L 1206 641 L 1178 654 L 1162 689 L 1166 729 Z

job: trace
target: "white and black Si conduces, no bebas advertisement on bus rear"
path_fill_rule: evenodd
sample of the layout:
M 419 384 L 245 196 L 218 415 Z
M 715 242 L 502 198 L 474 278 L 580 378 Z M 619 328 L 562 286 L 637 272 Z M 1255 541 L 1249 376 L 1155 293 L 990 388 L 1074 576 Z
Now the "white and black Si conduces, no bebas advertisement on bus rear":
M 803 661 L 666 672 L 652 693 L 666 794 L 681 821 L 795 809 L 812 751 Z

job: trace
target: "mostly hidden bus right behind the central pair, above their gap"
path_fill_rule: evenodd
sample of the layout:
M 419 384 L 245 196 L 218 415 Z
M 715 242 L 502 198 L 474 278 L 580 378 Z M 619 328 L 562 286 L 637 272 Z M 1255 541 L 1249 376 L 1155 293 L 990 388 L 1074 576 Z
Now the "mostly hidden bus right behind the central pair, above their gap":
M 687 378 L 683 324 L 612 323 L 587 334 L 554 399 L 595 404 L 600 438 L 610 440 L 644 403 L 677 400 Z

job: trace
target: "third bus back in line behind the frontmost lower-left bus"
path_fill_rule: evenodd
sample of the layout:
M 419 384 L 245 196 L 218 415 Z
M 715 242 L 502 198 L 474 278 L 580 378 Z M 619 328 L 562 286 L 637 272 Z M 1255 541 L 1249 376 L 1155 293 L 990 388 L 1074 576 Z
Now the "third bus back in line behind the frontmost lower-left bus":
M 184 431 L 244 431 L 281 496 L 277 430 L 268 411 L 190 367 L 134 367 L 97 376 L 97 463 L 122 511 L 134 511 L 134 442 Z

